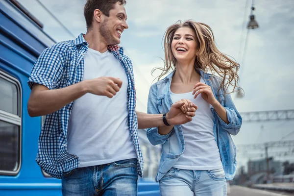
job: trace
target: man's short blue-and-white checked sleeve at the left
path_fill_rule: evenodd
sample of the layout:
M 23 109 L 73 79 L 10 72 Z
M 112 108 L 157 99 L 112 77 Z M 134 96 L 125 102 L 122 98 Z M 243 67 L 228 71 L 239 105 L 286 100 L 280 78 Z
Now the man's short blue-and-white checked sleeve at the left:
M 56 89 L 63 73 L 63 66 L 59 54 L 51 48 L 45 49 L 35 62 L 27 84 L 30 89 L 34 83 L 47 88 Z

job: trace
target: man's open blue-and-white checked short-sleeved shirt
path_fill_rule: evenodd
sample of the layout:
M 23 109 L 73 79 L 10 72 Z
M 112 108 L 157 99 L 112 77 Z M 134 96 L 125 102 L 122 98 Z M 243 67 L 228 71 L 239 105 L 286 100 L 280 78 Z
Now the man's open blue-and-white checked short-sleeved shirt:
M 32 88 L 33 83 L 38 83 L 51 90 L 81 82 L 84 74 L 83 56 L 88 48 L 83 34 L 80 34 L 75 40 L 60 42 L 45 49 L 32 69 L 28 79 L 29 87 Z M 128 126 L 137 152 L 138 174 L 143 177 L 144 165 L 137 132 L 136 89 L 132 62 L 123 54 L 122 47 L 111 45 L 108 49 L 121 62 L 127 74 Z M 73 102 L 47 115 L 39 137 L 36 161 L 45 172 L 55 178 L 61 178 L 62 172 L 69 172 L 78 167 L 78 157 L 67 151 L 66 135 L 72 108 Z

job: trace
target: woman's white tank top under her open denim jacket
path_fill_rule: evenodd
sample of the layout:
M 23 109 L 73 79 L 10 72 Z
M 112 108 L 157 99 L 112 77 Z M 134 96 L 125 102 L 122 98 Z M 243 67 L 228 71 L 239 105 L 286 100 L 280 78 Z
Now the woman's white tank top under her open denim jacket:
M 200 81 L 204 83 L 202 78 Z M 181 125 L 185 150 L 173 167 L 184 170 L 221 169 L 219 148 L 213 132 L 212 106 L 202 98 L 201 94 L 195 99 L 192 93 L 174 94 L 171 92 L 173 103 L 184 98 L 191 100 L 198 107 L 193 120 Z

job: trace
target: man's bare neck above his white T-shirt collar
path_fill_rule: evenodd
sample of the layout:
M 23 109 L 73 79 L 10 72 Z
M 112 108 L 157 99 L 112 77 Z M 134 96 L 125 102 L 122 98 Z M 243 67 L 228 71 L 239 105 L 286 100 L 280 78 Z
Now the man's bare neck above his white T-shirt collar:
M 88 30 L 84 38 L 89 44 L 90 49 L 97 50 L 100 53 L 106 52 L 108 46 L 98 29 L 92 28 L 91 30 Z

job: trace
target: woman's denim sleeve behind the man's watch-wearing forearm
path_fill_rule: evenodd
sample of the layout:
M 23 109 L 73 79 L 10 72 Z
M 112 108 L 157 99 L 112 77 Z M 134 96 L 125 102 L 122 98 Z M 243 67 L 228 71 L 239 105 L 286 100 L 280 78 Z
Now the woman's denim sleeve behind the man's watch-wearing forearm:
M 147 104 L 147 113 L 148 114 L 160 114 L 156 101 L 157 87 L 156 84 L 153 84 L 150 87 L 148 95 L 148 104 Z M 171 135 L 172 131 L 167 135 L 161 135 L 158 133 L 158 127 L 147 128 L 146 134 L 149 142 L 152 145 L 159 145 L 165 143 L 168 137 Z

